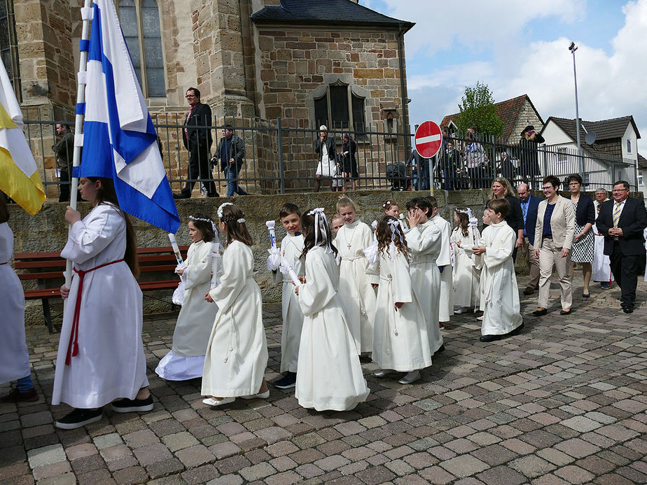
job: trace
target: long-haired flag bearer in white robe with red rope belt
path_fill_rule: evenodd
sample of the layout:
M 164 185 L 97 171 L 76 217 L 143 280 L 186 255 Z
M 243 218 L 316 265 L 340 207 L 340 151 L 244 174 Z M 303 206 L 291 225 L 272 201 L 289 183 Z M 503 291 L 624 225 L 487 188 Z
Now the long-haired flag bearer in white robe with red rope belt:
M 68 300 L 52 404 L 76 409 L 55 422 L 62 429 L 99 421 L 109 402 L 115 412 L 153 409 L 134 230 L 110 178 L 81 177 L 78 189 L 92 211 L 83 220 L 69 206 L 65 213 L 71 230 L 61 256 L 74 263 L 74 274 L 70 288 L 61 287 Z

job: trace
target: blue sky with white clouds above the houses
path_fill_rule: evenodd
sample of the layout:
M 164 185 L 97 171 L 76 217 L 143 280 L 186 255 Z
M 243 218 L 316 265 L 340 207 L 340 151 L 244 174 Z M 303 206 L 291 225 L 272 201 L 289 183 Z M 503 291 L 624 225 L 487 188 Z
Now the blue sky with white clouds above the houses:
M 405 34 L 412 128 L 457 113 L 479 80 L 494 101 L 528 94 L 544 121 L 575 118 L 574 41 L 580 118 L 633 115 L 647 139 L 647 0 L 359 3 L 416 23 Z

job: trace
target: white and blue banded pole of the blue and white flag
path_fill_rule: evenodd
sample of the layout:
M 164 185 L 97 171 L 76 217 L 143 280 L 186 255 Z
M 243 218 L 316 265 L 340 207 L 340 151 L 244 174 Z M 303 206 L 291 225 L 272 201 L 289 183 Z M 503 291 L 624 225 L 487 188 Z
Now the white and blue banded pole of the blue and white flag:
M 85 72 L 88 65 L 88 43 L 90 41 L 90 21 L 92 20 L 92 0 L 85 0 L 81 8 L 81 18 L 83 19 L 83 28 L 81 30 L 81 52 L 78 56 L 78 73 L 76 75 L 76 116 L 74 118 L 74 158 L 72 167 L 78 167 L 81 164 L 81 147 L 83 147 L 83 115 L 85 114 Z M 69 206 L 76 211 L 76 202 L 78 190 L 78 178 L 74 176 L 70 181 L 70 199 Z M 71 231 L 71 225 L 68 233 Z M 72 279 L 72 262 L 67 260 L 65 265 L 65 286 L 70 287 Z

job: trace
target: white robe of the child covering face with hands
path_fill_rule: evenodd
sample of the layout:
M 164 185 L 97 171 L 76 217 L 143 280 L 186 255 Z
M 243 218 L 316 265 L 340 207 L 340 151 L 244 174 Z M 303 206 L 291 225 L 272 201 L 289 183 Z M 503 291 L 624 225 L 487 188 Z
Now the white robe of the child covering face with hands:
M 438 253 L 440 253 L 441 235 L 440 228 L 431 220 L 413 227 L 405 234 L 411 250 L 411 283 L 416 295 L 420 297 L 432 353 L 443 345 L 443 335 L 438 328 L 440 272 L 436 265 Z

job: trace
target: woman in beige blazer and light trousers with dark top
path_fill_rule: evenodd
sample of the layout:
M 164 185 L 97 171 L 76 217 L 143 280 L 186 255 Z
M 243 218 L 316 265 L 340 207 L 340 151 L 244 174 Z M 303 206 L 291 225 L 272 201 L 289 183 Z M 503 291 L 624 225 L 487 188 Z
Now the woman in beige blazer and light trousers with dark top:
M 535 316 L 548 313 L 548 291 L 553 266 L 557 268 L 559 286 L 562 288 L 562 311 L 559 313 L 570 315 L 573 304 L 573 277 L 569 267 L 575 235 L 575 212 L 571 201 L 559 195 L 558 188 L 557 177 L 549 175 L 543 179 L 541 190 L 546 199 L 539 202 L 535 226 L 535 257 L 539 260 L 539 305 L 532 312 Z

